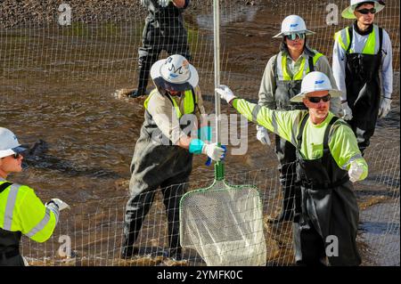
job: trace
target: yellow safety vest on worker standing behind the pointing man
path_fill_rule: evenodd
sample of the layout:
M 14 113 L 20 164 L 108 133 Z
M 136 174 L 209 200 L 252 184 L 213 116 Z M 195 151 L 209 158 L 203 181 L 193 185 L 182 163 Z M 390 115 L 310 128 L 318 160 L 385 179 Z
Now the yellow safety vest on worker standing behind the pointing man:
M 284 56 L 282 56 L 284 55 Z M 323 56 L 322 53 L 315 53 L 315 56 L 313 58 L 314 66 L 316 62 Z M 307 58 L 302 56 L 301 59 L 301 64 L 299 67 L 299 70 L 296 74 L 294 74 L 293 77 L 290 76 L 288 70 L 287 70 L 287 55 L 284 53 L 279 53 L 277 55 L 277 63 L 281 62 L 281 64 L 278 64 L 277 66 L 277 78 L 279 81 L 297 81 L 297 80 L 302 80 L 305 76 L 307 76 L 307 73 L 310 72 L 309 69 L 309 64 L 307 64 Z

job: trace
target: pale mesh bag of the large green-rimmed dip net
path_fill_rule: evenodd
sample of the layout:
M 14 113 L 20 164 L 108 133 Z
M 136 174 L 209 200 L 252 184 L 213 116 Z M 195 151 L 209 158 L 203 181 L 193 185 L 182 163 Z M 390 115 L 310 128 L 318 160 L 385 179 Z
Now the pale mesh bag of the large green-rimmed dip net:
M 256 188 L 216 183 L 180 201 L 183 247 L 195 249 L 209 266 L 266 264 L 262 207 Z

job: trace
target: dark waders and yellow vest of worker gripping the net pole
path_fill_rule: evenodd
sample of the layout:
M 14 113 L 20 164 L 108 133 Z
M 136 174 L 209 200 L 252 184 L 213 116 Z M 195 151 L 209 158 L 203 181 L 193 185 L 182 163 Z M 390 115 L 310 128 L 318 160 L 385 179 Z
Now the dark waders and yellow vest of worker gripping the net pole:
M 149 95 L 148 100 L 151 95 L 153 93 Z M 168 94 L 166 95 L 173 106 L 177 108 L 176 101 Z M 184 96 L 185 110 L 183 114 L 180 113 L 180 127 L 186 132 L 191 128 L 193 118 L 196 118 L 194 114 L 199 108 L 193 89 L 186 91 Z M 192 101 L 192 105 L 185 100 Z M 145 109 L 147 109 L 146 103 Z M 168 138 L 161 133 L 159 127 L 151 118 L 151 114 L 145 110 L 145 119 L 131 162 L 130 199 L 128 199 L 126 207 L 124 240 L 121 251 L 123 258 L 129 258 L 135 254 L 133 247 L 135 240 L 141 230 L 143 219 L 151 208 L 158 188 L 161 189 L 168 218 L 168 256 L 176 259 L 181 257 L 181 247 L 179 245 L 179 201 L 185 193 L 186 183 L 189 180 L 191 171 L 192 154 L 184 148 L 172 145 Z M 139 240 L 139 243 L 141 243 L 141 240 Z

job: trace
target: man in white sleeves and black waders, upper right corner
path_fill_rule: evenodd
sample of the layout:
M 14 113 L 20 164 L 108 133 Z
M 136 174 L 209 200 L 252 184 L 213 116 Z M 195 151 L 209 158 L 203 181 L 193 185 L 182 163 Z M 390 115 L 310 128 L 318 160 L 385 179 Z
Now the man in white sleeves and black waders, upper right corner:
M 341 91 L 343 116 L 356 134 L 359 149 L 370 144 L 377 118 L 385 118 L 393 93 L 392 49 L 388 33 L 373 24 L 382 1 L 351 0 L 342 12 L 356 19 L 335 35 L 332 72 Z

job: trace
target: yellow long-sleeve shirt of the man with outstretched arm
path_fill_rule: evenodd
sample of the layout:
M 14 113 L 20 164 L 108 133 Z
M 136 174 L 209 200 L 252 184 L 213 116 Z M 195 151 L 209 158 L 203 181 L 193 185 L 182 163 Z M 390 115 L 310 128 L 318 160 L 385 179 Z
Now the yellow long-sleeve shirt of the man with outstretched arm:
M 280 135 L 283 139 L 291 142 L 297 147 L 297 136 L 299 127 L 307 115 L 307 110 L 269 110 L 249 101 L 235 99 L 233 108 L 238 110 L 245 118 L 266 127 L 271 132 Z M 305 159 L 316 159 L 323 157 L 323 137 L 326 127 L 334 115 L 329 112 L 327 118 L 321 124 L 314 125 L 310 118 L 302 135 L 300 153 Z M 349 126 L 346 126 L 340 119 L 332 126 L 329 135 L 329 149 L 337 165 L 348 170 L 352 162 L 363 166 L 364 173 L 360 176 L 363 180 L 368 174 L 368 166 L 362 157 L 361 151 L 356 142 L 356 136 Z

